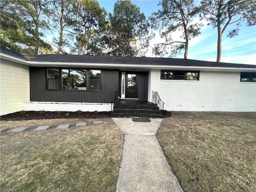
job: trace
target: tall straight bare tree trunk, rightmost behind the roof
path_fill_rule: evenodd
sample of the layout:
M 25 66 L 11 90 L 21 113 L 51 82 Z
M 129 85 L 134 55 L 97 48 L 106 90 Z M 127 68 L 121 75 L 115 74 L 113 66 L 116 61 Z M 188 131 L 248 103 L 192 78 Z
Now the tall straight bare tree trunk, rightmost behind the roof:
M 218 15 L 217 15 L 217 28 L 218 28 L 218 43 L 217 43 L 217 60 L 216 62 L 221 61 L 221 43 L 222 43 L 222 31 L 221 31 L 221 14 L 222 14 L 222 0 L 218 2 Z

